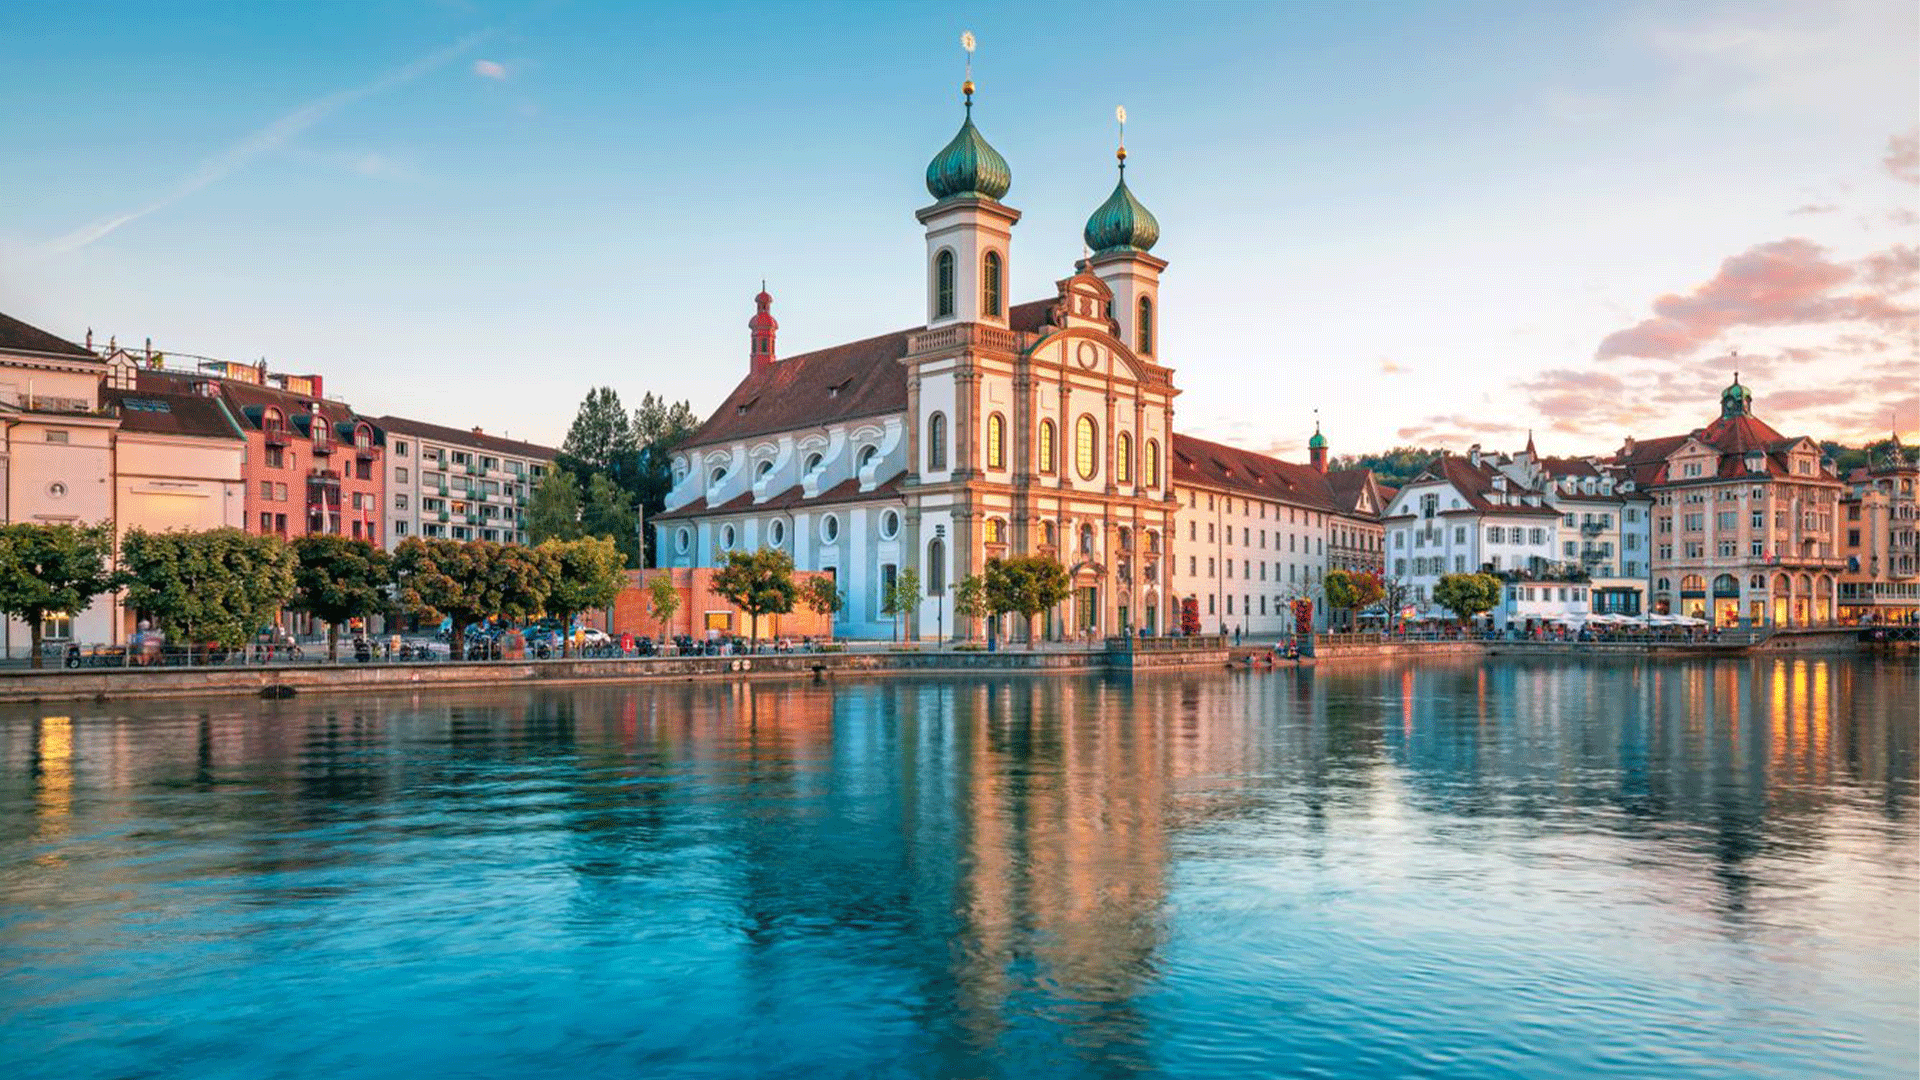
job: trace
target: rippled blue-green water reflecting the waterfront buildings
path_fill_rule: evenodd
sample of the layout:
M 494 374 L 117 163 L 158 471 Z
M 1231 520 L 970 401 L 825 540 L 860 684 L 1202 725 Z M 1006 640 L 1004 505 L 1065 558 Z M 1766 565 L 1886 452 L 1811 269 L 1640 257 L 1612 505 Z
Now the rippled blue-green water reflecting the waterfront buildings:
M 0 709 L 0 1074 L 1910 1078 L 1910 665 Z

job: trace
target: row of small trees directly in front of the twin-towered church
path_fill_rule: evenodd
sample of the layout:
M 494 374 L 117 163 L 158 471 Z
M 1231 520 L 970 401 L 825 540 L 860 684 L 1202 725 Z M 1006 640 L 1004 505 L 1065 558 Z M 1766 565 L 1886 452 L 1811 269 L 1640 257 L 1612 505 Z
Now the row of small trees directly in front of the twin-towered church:
M 676 607 L 660 615 L 662 592 L 672 586 L 655 588 L 666 582 L 657 577 L 649 582 L 655 617 L 672 617 Z M 787 615 L 795 605 L 804 605 L 818 615 L 833 615 L 845 607 L 847 598 L 833 584 L 833 578 L 814 577 L 804 584 L 793 577 L 793 559 L 785 552 L 760 548 L 758 552 L 730 552 L 726 565 L 714 571 L 714 592 L 724 596 L 733 607 L 747 615 L 747 636 L 758 640 L 758 626 L 764 615 Z M 970 575 L 954 582 L 952 611 L 958 619 L 987 619 L 993 615 L 1021 615 L 1027 619 L 1029 640 L 1033 617 L 1052 609 L 1071 594 L 1068 571 L 1058 561 L 1044 555 L 1020 555 L 1012 559 L 989 559 L 983 575 Z M 900 636 L 902 619 L 922 609 L 927 594 L 922 590 L 920 571 L 900 569 L 893 584 L 881 592 L 881 613 L 893 617 L 893 634 Z M 678 598 L 670 601 L 678 605 Z

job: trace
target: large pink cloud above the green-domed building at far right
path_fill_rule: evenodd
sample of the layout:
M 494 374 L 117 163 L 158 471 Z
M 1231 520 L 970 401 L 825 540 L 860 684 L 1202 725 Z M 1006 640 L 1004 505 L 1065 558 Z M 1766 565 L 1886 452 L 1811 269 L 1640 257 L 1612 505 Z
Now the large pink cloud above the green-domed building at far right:
M 1895 281 L 1901 250 L 1880 252 L 1860 267 L 1837 263 L 1826 248 L 1803 238 L 1755 244 L 1720 263 L 1693 292 L 1653 302 L 1653 317 L 1607 334 L 1596 357 L 1638 356 L 1676 359 L 1734 327 L 1797 327 L 1820 323 L 1897 323 L 1914 315 L 1880 292 L 1839 292 L 1864 269 L 1870 284 Z

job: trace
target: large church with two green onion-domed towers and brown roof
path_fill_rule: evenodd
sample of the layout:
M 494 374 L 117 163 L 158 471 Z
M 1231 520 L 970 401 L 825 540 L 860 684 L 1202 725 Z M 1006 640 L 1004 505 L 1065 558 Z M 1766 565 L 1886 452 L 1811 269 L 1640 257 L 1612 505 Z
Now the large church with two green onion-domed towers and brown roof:
M 1158 350 L 1160 225 L 1125 183 L 1087 221 L 1054 296 L 1006 296 L 1020 211 L 1004 158 L 966 121 L 927 165 L 925 315 L 783 357 L 756 296 L 747 373 L 674 457 L 660 565 L 774 548 L 833 575 L 841 636 L 979 634 L 952 588 L 989 559 L 1048 555 L 1071 598 L 1050 640 L 1173 626 L 1173 371 Z M 887 613 L 899 575 L 925 601 Z M 1020 619 L 1004 626 L 1025 634 Z

